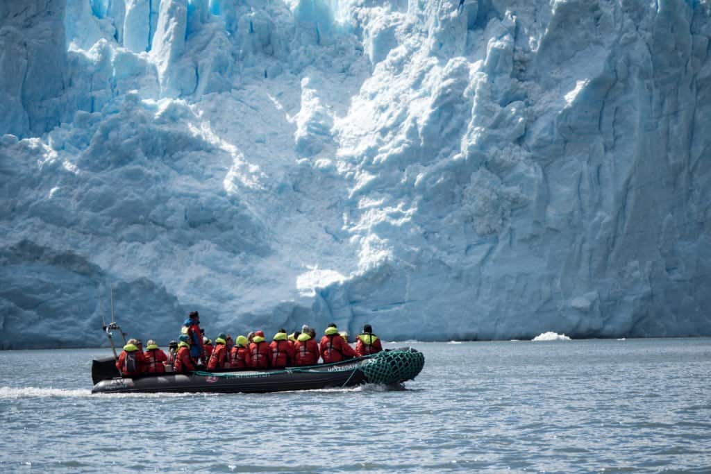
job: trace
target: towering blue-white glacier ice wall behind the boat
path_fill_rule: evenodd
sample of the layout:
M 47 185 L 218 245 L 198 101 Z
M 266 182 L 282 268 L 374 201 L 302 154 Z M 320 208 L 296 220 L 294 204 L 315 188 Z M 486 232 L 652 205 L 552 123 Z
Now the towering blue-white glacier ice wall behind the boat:
M 710 11 L 4 2 L 0 346 L 711 335 Z

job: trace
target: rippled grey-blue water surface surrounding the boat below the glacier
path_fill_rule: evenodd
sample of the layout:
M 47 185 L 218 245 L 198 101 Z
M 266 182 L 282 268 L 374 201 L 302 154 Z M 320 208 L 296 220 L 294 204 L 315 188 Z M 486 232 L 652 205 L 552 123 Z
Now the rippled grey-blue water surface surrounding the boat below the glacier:
M 710 339 L 410 345 L 404 391 L 171 396 L 90 395 L 107 350 L 0 352 L 0 471 L 711 471 Z

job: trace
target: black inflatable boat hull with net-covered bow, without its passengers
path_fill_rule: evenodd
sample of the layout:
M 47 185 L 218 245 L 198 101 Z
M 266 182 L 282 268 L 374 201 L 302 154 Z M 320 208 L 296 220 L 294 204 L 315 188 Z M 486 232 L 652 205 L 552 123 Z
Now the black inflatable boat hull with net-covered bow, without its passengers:
M 209 392 L 264 393 L 353 387 L 358 384 L 399 386 L 424 367 L 424 355 L 412 348 L 309 367 L 265 370 L 198 370 L 188 375 L 165 373 L 121 377 L 113 357 L 92 361 L 92 393 Z

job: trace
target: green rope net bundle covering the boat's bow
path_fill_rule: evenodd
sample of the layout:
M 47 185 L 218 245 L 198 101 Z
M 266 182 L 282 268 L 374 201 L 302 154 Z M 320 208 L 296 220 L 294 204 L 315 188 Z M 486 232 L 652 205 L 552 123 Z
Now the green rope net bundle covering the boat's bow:
M 400 384 L 414 379 L 424 367 L 424 354 L 412 348 L 383 350 L 360 366 L 371 384 Z

